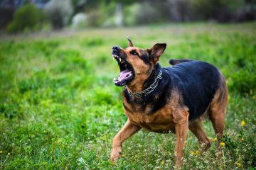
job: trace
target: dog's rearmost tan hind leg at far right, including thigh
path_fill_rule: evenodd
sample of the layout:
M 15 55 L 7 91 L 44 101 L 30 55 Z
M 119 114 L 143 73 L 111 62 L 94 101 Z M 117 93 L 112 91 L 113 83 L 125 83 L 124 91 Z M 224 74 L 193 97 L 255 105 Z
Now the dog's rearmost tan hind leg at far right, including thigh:
M 225 127 L 225 112 L 228 104 L 228 88 L 225 84 L 225 79 L 220 77 L 220 87 L 215 93 L 213 101 L 210 103 L 208 110 L 210 121 L 213 123 L 217 141 L 218 141 L 218 158 L 223 155 L 220 142 L 223 139 L 224 127 Z

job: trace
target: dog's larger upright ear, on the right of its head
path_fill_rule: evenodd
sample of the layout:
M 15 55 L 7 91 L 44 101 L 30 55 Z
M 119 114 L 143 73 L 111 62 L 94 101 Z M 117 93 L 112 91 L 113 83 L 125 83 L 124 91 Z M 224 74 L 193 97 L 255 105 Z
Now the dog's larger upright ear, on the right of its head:
M 164 53 L 166 49 L 166 43 L 157 43 L 147 51 L 149 52 L 149 61 L 156 64 L 159 61 L 159 57 Z

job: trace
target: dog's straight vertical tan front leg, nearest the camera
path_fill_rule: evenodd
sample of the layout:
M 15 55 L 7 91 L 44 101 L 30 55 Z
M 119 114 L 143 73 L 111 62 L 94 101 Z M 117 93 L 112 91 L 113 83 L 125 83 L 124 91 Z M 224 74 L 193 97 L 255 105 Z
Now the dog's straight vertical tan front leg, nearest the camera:
M 175 125 L 176 145 L 175 145 L 175 166 L 180 169 L 183 158 L 183 149 L 186 145 L 186 136 L 188 134 L 188 115 L 178 120 Z

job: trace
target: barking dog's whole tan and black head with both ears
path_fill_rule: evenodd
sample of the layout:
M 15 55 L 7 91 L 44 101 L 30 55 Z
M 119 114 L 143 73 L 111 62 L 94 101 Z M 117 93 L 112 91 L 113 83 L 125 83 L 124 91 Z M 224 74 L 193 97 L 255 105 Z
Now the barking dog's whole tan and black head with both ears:
M 117 60 L 120 69 L 118 79 L 114 79 L 116 86 L 132 86 L 146 80 L 166 49 L 165 43 L 157 43 L 149 49 L 134 47 L 132 41 L 127 39 L 129 41 L 127 48 L 118 46 L 112 48 L 112 57 Z

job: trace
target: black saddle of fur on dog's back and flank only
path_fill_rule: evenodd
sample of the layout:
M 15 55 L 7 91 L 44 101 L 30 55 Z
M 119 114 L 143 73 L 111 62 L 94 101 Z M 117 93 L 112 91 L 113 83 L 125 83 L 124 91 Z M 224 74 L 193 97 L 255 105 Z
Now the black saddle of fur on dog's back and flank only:
M 183 96 L 183 103 L 188 107 L 189 120 L 203 115 L 218 89 L 221 76 L 218 69 L 207 62 L 193 60 L 181 60 L 174 67 L 164 69 L 170 73 L 171 84 Z

